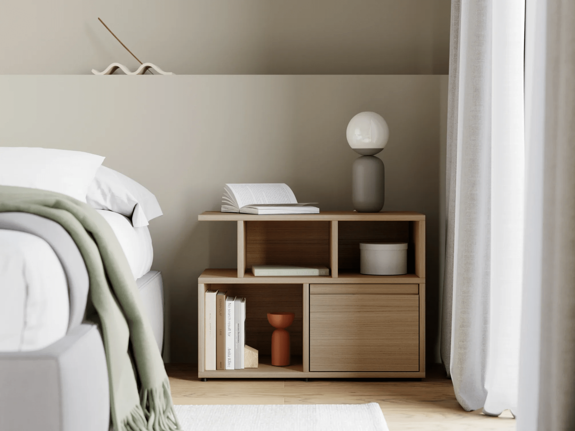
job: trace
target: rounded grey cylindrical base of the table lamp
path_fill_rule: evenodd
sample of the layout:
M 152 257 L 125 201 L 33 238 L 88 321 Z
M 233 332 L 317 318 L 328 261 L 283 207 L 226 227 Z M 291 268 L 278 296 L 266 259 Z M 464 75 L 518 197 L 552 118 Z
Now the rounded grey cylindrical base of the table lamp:
M 351 170 L 351 198 L 358 213 L 378 213 L 384 207 L 385 167 L 379 157 L 355 159 Z

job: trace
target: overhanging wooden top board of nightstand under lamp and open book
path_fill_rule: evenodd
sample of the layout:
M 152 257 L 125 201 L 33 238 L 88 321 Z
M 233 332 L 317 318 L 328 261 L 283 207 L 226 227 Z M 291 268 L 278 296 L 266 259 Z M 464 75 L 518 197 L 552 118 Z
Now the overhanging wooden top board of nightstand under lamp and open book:
M 383 211 L 358 213 L 356 211 L 320 211 L 319 214 L 240 214 L 205 211 L 198 216 L 204 221 L 425 221 L 425 215 L 415 211 Z

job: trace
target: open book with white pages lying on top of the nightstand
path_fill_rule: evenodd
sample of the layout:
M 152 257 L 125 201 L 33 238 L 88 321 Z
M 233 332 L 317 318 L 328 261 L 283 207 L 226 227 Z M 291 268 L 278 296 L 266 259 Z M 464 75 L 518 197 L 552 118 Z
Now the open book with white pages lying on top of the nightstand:
M 316 214 L 316 206 L 297 203 L 287 184 L 225 184 L 221 211 L 244 214 Z

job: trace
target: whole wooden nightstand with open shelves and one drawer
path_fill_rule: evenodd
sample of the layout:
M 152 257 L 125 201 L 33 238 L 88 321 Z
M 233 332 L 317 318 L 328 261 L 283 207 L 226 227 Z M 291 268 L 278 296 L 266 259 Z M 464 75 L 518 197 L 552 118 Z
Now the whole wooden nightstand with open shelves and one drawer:
M 254 216 L 206 212 L 199 220 L 237 224 L 237 269 L 198 279 L 201 378 L 421 378 L 425 376 L 425 216 L 412 212 Z M 359 274 L 361 241 L 408 243 L 408 274 Z M 255 277 L 254 264 L 325 265 L 329 276 Z M 204 293 L 247 298 L 246 341 L 258 368 L 204 367 Z M 269 358 L 269 311 L 293 311 L 292 364 Z

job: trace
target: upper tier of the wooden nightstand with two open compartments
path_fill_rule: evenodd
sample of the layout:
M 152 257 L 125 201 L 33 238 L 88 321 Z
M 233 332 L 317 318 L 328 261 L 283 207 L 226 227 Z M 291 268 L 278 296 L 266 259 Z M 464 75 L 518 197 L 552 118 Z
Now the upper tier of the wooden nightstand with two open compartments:
M 338 278 L 340 271 L 359 273 L 362 241 L 407 242 L 408 274 L 425 278 L 423 214 L 356 213 L 350 219 L 348 213 L 334 212 L 315 214 L 315 220 L 310 220 L 313 214 L 301 220 L 297 215 L 284 220 L 246 216 L 250 214 L 226 214 L 225 219 L 237 222 L 238 278 L 243 278 L 251 265 L 321 265 L 330 268 L 332 278 Z M 221 216 L 204 213 L 200 217 L 219 220 Z

